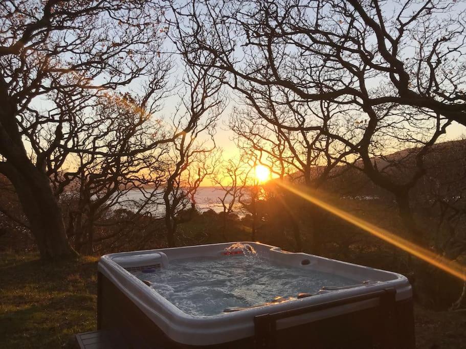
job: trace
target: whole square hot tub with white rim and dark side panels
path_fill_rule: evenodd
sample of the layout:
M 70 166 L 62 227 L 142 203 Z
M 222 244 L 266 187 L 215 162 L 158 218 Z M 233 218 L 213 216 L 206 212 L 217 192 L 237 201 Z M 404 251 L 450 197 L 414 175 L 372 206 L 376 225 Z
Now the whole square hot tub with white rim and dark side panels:
M 253 242 L 107 254 L 98 270 L 98 328 L 132 347 L 414 348 L 411 285 L 389 271 Z

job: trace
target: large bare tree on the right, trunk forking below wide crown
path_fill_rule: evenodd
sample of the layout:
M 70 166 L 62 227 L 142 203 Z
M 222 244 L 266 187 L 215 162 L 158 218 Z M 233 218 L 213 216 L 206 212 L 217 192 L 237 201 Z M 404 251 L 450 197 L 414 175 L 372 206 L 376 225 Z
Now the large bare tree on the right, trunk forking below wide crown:
M 317 132 L 331 139 L 338 145 L 330 157 L 335 164 L 349 163 L 347 155 L 358 154 L 361 161 L 350 162 L 393 193 L 411 237 L 420 239 L 409 190 L 425 173 L 423 156 L 430 146 L 453 120 L 464 117 L 459 87 L 464 71 L 462 58 L 456 57 L 464 50 L 463 18 L 448 12 L 456 5 L 407 2 L 396 5 L 391 17 L 378 2 L 365 3 L 367 9 L 357 1 L 202 4 L 172 5 L 180 18 L 177 33 L 187 48 L 187 61 L 204 66 L 196 57 L 212 57 L 210 67 L 226 74 L 223 82 L 277 131 Z M 435 11 L 445 12 L 441 22 Z M 185 18 L 189 21 L 182 21 Z M 421 22 L 425 30 L 419 33 Z M 442 39 L 431 45 L 440 34 Z M 444 43 L 452 41 L 455 44 L 445 48 Z M 409 50 L 414 50 L 414 58 L 403 63 Z M 458 85 L 446 77 L 446 69 Z M 283 107 L 297 115 L 298 122 L 277 120 L 271 110 Z M 408 142 L 421 145 L 415 173 L 400 181 L 377 168 L 374 157 Z

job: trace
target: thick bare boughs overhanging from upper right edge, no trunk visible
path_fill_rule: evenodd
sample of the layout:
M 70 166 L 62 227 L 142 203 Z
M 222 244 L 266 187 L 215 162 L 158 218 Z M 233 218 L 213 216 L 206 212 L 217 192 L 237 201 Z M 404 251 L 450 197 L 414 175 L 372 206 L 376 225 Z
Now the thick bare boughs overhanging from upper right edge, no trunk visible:
M 466 125 L 462 2 L 193 0 L 171 6 L 190 64 L 214 57 L 232 88 L 270 86 L 305 101 L 365 110 L 409 106 Z

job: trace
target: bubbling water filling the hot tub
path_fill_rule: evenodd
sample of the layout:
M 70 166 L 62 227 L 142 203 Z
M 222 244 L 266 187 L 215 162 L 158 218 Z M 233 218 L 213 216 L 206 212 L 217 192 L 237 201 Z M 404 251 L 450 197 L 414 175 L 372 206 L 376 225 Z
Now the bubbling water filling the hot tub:
M 225 255 L 235 251 L 240 254 Z M 299 294 L 316 294 L 323 286 L 359 283 L 335 274 L 280 265 L 248 244 L 233 244 L 222 254 L 171 260 L 166 269 L 135 271 L 134 275 L 183 312 L 197 316 L 296 299 Z

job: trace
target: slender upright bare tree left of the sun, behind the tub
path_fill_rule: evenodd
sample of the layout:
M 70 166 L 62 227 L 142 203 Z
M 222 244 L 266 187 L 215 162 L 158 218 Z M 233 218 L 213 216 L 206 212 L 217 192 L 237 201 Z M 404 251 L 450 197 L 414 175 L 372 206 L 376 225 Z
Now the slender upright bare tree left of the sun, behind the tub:
M 208 69 L 188 69 L 186 82 L 189 97 L 182 98 L 182 114 L 173 119 L 173 128 L 178 132 L 183 123 L 186 126 L 172 143 L 165 160 L 168 166 L 163 202 L 169 247 L 176 246 L 179 223 L 190 219 L 189 215 L 181 215 L 181 211 L 190 202 L 190 213 L 193 213 L 197 188 L 215 170 L 218 160 L 214 154 L 215 124 L 225 109 L 225 102 L 219 96 L 221 83 Z M 199 140 L 200 137 L 204 140 Z

